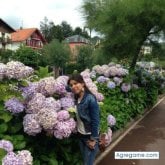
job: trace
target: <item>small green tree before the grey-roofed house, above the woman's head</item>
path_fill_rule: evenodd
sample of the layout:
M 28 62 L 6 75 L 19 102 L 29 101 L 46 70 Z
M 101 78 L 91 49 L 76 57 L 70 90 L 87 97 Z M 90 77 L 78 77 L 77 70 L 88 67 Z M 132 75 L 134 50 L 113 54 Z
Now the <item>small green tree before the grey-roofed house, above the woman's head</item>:
M 77 54 L 77 64 L 80 71 L 92 66 L 92 53 L 93 49 L 91 46 L 79 46 Z

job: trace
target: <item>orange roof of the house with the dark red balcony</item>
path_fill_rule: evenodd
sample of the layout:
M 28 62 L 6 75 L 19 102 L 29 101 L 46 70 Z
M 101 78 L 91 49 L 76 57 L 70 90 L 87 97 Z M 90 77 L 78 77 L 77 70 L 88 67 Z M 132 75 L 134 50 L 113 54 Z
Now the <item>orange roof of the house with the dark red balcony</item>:
M 40 31 L 37 28 L 28 28 L 28 29 L 19 29 L 16 32 L 11 34 L 11 39 L 13 42 L 25 41 L 28 39 L 34 32 L 38 33 L 41 36 L 41 39 L 46 43 L 45 38 L 42 36 Z

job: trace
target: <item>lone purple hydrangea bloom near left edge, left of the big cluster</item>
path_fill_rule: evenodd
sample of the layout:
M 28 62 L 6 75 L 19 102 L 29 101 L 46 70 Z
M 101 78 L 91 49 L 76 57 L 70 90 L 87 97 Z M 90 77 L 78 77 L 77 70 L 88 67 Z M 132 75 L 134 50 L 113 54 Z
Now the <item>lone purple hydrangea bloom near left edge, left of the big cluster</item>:
M 17 98 L 11 98 L 5 102 L 5 108 L 9 112 L 16 114 L 22 112 L 25 107 Z

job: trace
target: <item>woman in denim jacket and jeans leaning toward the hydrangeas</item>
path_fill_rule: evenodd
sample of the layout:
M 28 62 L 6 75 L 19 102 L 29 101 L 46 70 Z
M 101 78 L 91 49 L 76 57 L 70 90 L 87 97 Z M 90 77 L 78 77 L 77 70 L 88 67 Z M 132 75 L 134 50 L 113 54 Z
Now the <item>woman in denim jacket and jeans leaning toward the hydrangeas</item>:
M 99 106 L 81 75 L 72 75 L 68 80 L 68 85 L 75 95 L 77 129 L 84 165 L 93 165 L 98 152 Z

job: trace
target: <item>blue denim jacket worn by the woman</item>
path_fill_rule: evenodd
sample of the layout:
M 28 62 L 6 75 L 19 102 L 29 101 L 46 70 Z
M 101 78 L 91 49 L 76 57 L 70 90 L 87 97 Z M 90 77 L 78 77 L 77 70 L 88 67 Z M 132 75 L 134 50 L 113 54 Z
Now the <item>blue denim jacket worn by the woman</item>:
M 97 140 L 99 138 L 100 110 L 95 96 L 85 92 L 81 102 L 76 102 L 76 105 L 85 131 L 91 132 L 91 140 Z

